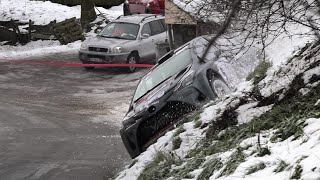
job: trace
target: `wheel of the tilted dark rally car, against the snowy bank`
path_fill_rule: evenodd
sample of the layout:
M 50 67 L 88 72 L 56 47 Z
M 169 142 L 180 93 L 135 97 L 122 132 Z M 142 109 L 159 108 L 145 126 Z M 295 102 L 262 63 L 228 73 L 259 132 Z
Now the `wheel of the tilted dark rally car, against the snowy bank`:
M 209 85 L 216 97 L 221 98 L 231 92 L 230 87 L 223 78 L 214 72 L 208 74 Z

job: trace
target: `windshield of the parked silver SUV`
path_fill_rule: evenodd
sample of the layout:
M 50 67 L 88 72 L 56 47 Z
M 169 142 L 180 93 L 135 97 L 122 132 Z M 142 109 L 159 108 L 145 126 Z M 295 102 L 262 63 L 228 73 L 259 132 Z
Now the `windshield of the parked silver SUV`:
M 139 32 L 139 25 L 131 23 L 109 23 L 99 34 L 107 38 L 135 40 Z

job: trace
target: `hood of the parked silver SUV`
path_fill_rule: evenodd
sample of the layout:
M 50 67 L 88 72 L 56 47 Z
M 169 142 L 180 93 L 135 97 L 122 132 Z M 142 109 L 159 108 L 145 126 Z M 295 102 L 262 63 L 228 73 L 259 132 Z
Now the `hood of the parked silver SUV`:
M 92 47 L 105 47 L 105 48 L 112 48 L 116 46 L 122 46 L 132 40 L 126 39 L 116 39 L 116 38 L 105 38 L 101 36 L 96 36 L 94 38 L 88 39 L 86 43 L 88 46 Z

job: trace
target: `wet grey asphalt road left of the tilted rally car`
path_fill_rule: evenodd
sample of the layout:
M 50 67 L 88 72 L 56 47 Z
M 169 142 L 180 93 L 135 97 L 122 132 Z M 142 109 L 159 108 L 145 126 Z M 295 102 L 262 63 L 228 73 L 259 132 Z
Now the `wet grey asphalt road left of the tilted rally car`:
M 28 58 L 79 62 L 77 54 Z M 119 129 L 137 80 L 0 61 L 0 179 L 109 179 L 130 162 Z

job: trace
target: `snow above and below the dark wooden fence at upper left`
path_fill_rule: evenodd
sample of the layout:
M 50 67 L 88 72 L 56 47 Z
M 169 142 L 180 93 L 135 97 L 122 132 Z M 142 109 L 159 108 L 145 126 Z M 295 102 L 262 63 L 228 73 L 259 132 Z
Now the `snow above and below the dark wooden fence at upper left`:
M 110 9 L 98 7 L 96 13 L 103 14 L 109 20 L 122 15 L 122 5 Z M 51 21 L 63 21 L 68 18 L 80 18 L 80 6 L 68 7 L 50 1 L 30 1 L 30 0 L 0 0 L 0 21 L 11 19 L 27 23 L 29 19 L 34 21 L 35 25 L 46 25 Z M 23 28 L 20 29 L 25 31 Z M 94 33 L 88 33 L 87 38 L 94 36 Z M 0 42 L 0 58 L 3 59 L 22 59 L 32 56 L 41 56 L 50 53 L 78 51 L 81 41 L 61 45 L 58 41 L 34 41 L 24 46 L 2 45 Z

